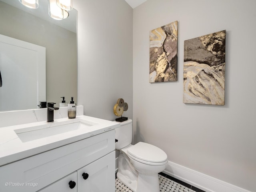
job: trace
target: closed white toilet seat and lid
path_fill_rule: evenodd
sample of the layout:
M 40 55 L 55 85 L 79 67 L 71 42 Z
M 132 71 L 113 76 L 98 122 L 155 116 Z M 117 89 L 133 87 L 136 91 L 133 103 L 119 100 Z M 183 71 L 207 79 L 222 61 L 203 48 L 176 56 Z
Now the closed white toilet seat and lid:
M 163 150 L 144 142 L 138 142 L 129 147 L 127 155 L 138 162 L 148 165 L 164 165 L 168 161 L 167 155 Z

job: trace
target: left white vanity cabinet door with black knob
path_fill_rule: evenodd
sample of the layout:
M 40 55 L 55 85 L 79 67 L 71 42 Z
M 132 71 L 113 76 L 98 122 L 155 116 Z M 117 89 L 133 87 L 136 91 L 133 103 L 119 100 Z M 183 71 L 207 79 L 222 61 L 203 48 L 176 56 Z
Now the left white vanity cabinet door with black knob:
M 38 192 L 77 192 L 77 172 L 65 176 Z

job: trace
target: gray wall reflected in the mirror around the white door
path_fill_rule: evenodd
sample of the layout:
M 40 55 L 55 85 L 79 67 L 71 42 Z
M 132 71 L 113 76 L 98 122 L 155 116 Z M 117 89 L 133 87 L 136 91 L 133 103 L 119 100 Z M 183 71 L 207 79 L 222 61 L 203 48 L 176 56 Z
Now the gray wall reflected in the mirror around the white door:
M 46 47 L 46 100 L 76 101 L 76 34 L 3 2 L 0 13 L 0 34 Z

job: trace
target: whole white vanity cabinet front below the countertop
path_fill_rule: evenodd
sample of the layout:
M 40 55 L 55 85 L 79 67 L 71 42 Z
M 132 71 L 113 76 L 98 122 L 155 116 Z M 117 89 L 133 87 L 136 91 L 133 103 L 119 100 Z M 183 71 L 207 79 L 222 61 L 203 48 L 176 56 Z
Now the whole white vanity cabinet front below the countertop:
M 115 130 L 110 130 L 0 166 L 0 191 L 113 192 L 114 150 Z M 70 181 L 76 183 L 73 189 Z

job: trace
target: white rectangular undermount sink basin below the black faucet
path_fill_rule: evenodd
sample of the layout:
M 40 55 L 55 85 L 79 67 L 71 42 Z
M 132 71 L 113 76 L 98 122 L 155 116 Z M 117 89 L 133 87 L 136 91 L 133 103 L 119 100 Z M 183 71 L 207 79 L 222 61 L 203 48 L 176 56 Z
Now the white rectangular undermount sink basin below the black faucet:
M 37 140 L 40 138 L 62 134 L 65 132 L 70 132 L 70 131 L 79 130 L 79 129 L 86 129 L 96 124 L 97 123 L 88 122 L 88 121 L 72 122 L 68 124 L 53 123 L 53 124 L 48 124 L 48 126 L 41 125 L 41 126 L 17 129 L 17 130 L 14 130 L 14 132 L 17 134 L 17 136 L 20 138 L 22 142 L 28 142 L 28 141 Z

